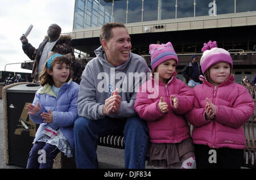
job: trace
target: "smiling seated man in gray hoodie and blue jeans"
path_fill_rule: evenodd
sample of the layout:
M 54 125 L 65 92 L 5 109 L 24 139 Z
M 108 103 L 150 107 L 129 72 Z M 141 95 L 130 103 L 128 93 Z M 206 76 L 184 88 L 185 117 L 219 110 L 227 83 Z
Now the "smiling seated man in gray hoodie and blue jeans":
M 123 132 L 125 168 L 144 168 L 148 127 L 134 110 L 139 85 L 150 72 L 146 61 L 131 53 L 125 25 L 107 23 L 100 34 L 101 46 L 94 52 L 80 83 L 74 125 L 77 168 L 98 168 L 98 136 Z

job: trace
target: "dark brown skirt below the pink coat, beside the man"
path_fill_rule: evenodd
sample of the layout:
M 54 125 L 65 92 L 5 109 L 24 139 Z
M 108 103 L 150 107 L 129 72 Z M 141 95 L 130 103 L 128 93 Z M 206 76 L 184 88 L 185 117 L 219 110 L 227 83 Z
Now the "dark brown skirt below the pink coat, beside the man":
M 192 139 L 180 143 L 150 143 L 146 155 L 147 165 L 155 168 L 180 168 L 182 162 L 195 156 Z

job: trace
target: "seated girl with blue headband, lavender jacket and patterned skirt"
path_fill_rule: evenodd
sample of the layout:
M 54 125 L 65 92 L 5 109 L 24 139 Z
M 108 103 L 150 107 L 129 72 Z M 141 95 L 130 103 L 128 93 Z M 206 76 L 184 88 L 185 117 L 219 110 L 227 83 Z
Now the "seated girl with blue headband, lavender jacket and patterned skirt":
M 76 101 L 79 85 L 72 82 L 69 58 L 51 55 L 40 75 L 40 88 L 26 109 L 32 121 L 40 124 L 30 151 L 28 169 L 50 169 L 61 151 L 72 157 L 73 124 L 78 117 Z

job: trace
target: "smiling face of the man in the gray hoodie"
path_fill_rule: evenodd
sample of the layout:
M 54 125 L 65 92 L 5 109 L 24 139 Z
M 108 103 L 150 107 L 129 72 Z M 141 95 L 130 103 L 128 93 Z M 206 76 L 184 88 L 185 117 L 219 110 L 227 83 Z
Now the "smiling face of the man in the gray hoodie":
M 126 28 L 112 28 L 113 37 L 109 41 L 102 40 L 108 62 L 119 66 L 129 60 L 131 38 Z

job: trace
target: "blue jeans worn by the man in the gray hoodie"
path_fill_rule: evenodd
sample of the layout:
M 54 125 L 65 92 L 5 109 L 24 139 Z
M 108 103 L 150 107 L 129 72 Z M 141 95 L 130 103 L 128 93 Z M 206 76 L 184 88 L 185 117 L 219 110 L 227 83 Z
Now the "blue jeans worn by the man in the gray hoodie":
M 98 136 L 122 133 L 125 141 L 125 168 L 144 168 L 148 147 L 148 127 L 141 118 L 76 119 L 74 125 L 77 168 L 98 168 Z

